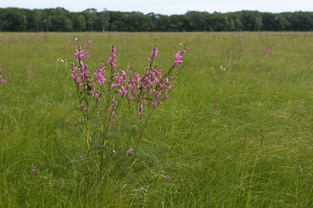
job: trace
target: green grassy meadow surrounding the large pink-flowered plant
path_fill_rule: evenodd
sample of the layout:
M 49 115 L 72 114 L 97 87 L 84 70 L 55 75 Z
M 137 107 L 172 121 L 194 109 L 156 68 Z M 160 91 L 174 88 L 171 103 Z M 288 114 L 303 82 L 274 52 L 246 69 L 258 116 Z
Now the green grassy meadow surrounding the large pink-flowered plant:
M 77 36 L 92 74 L 113 43 L 118 69 L 135 59 L 142 71 L 156 38 L 163 68 L 188 41 L 146 156 L 111 153 L 90 180 L 84 141 L 60 125 L 81 117 L 67 62 Z M 313 33 L 2 32 L 0 46 L 0 207 L 313 206 Z

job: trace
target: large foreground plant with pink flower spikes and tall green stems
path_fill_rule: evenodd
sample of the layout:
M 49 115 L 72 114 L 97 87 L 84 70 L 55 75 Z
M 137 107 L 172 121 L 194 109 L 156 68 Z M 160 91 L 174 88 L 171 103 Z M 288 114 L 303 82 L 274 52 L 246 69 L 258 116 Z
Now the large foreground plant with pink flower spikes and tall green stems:
M 187 44 L 187 42 L 186 42 Z M 185 48 L 177 51 L 175 60 L 169 70 L 162 70 L 161 64 L 153 66 L 153 61 L 157 56 L 157 45 L 153 47 L 150 57 L 146 58 L 146 65 L 143 74 L 140 75 L 133 67 L 134 62 L 128 66 L 128 70 L 124 70 L 123 66 L 117 70 L 115 62 L 116 49 L 114 44 L 111 47 L 111 55 L 108 60 L 101 61 L 98 58 L 96 62 L 96 70 L 94 75 L 88 71 L 88 65 L 84 64 L 82 58 L 84 57 L 83 50 L 80 46 L 78 38 L 76 53 L 76 65 L 70 62 L 72 70 L 72 78 L 80 101 L 80 111 L 82 113 L 82 120 L 84 121 L 84 141 L 86 143 L 87 152 L 90 155 L 90 119 L 93 118 L 92 114 L 96 113 L 97 123 L 100 123 L 99 128 L 101 133 L 100 155 L 100 174 L 103 167 L 105 155 L 116 154 L 116 151 L 111 149 L 110 152 L 104 152 L 105 145 L 108 142 L 108 130 L 110 121 L 114 118 L 116 109 L 121 106 L 121 102 L 126 98 L 128 102 L 128 115 L 133 121 L 139 121 L 133 128 L 138 128 L 140 136 L 137 140 L 134 150 L 130 148 L 130 137 L 127 141 L 127 147 L 124 155 L 135 157 L 136 149 L 143 136 L 146 124 L 151 117 L 154 109 L 163 100 L 169 97 L 170 92 L 178 85 L 176 81 L 177 75 L 181 72 L 182 68 L 176 72 L 172 72 L 179 64 L 182 63 L 182 55 L 185 53 Z M 105 78 L 105 72 L 110 70 L 110 75 Z M 100 121 L 100 122 L 99 122 Z M 129 149 L 130 148 L 130 149 Z M 121 147 L 119 147 L 121 149 Z M 131 153 L 132 152 L 132 153 Z M 90 157 L 89 157 L 90 158 Z M 88 162 L 88 169 L 90 170 L 90 160 Z

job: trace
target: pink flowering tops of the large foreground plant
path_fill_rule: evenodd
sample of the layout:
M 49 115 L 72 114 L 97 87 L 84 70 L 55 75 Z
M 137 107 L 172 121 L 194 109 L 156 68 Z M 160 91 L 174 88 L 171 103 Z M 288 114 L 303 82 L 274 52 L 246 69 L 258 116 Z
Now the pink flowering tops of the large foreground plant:
M 117 107 L 117 101 L 121 101 L 122 98 L 126 97 L 128 103 L 131 101 L 136 103 L 137 106 L 137 115 L 141 118 L 144 111 L 147 109 L 154 109 L 159 104 L 162 104 L 162 100 L 165 100 L 169 97 L 169 93 L 174 89 L 178 82 L 175 82 L 177 75 L 181 72 L 182 69 L 177 70 L 174 74 L 172 70 L 182 63 L 182 55 L 186 51 L 185 48 L 182 51 L 177 51 L 175 55 L 175 61 L 172 67 L 166 71 L 161 69 L 161 64 L 159 66 L 152 66 L 153 60 L 156 58 L 158 53 L 158 48 L 153 46 L 153 50 L 151 50 L 150 58 L 146 59 L 146 67 L 142 75 L 139 75 L 137 71 L 133 68 L 133 66 L 128 66 L 128 70 L 123 70 L 121 68 L 116 72 L 115 59 L 116 49 L 114 44 L 111 47 L 111 55 L 106 62 L 100 63 L 97 62 L 96 72 L 94 73 L 95 79 L 90 78 L 90 72 L 87 71 L 88 65 L 84 64 L 82 61 L 82 50 L 80 44 L 78 44 L 77 49 L 75 50 L 77 60 L 77 67 L 72 65 L 72 78 L 75 82 L 75 87 L 77 88 L 77 92 L 79 95 L 84 94 L 83 99 L 86 99 L 87 96 L 92 96 L 97 101 L 97 105 L 100 105 L 100 102 L 105 95 L 105 90 L 109 90 L 109 95 L 106 96 L 105 102 L 109 102 L 109 114 L 110 118 L 115 114 L 115 108 Z M 111 67 L 110 79 L 109 79 L 109 87 L 106 88 L 105 82 L 105 72 L 107 65 L 109 64 Z M 129 75 L 129 78 L 127 76 Z M 106 93 L 107 94 L 107 93 Z M 110 94 L 112 94 L 110 96 Z M 117 95 L 120 95 L 120 99 L 117 99 Z M 81 109 L 86 109 L 87 106 L 83 105 L 81 102 Z M 98 107 L 97 106 L 97 107 Z

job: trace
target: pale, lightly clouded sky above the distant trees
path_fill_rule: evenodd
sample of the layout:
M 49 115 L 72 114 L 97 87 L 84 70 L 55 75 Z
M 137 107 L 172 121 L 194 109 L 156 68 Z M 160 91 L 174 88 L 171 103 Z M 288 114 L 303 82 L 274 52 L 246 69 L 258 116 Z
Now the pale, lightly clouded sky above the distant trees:
M 241 10 L 258 10 L 259 12 L 313 12 L 312 0 L 2 0 L 1 8 L 18 7 L 44 9 L 64 7 L 70 12 L 81 12 L 87 8 L 102 11 L 154 12 L 156 14 L 185 14 L 187 11 L 200 12 L 237 12 Z

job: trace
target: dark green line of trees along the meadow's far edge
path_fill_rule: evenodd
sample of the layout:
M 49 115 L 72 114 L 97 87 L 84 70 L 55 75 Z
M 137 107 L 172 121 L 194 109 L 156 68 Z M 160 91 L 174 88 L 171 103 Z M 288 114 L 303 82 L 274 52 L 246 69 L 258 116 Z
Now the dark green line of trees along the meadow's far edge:
M 86 9 L 0 8 L 0 31 L 312 31 L 313 12 L 208 13 L 182 15 Z

